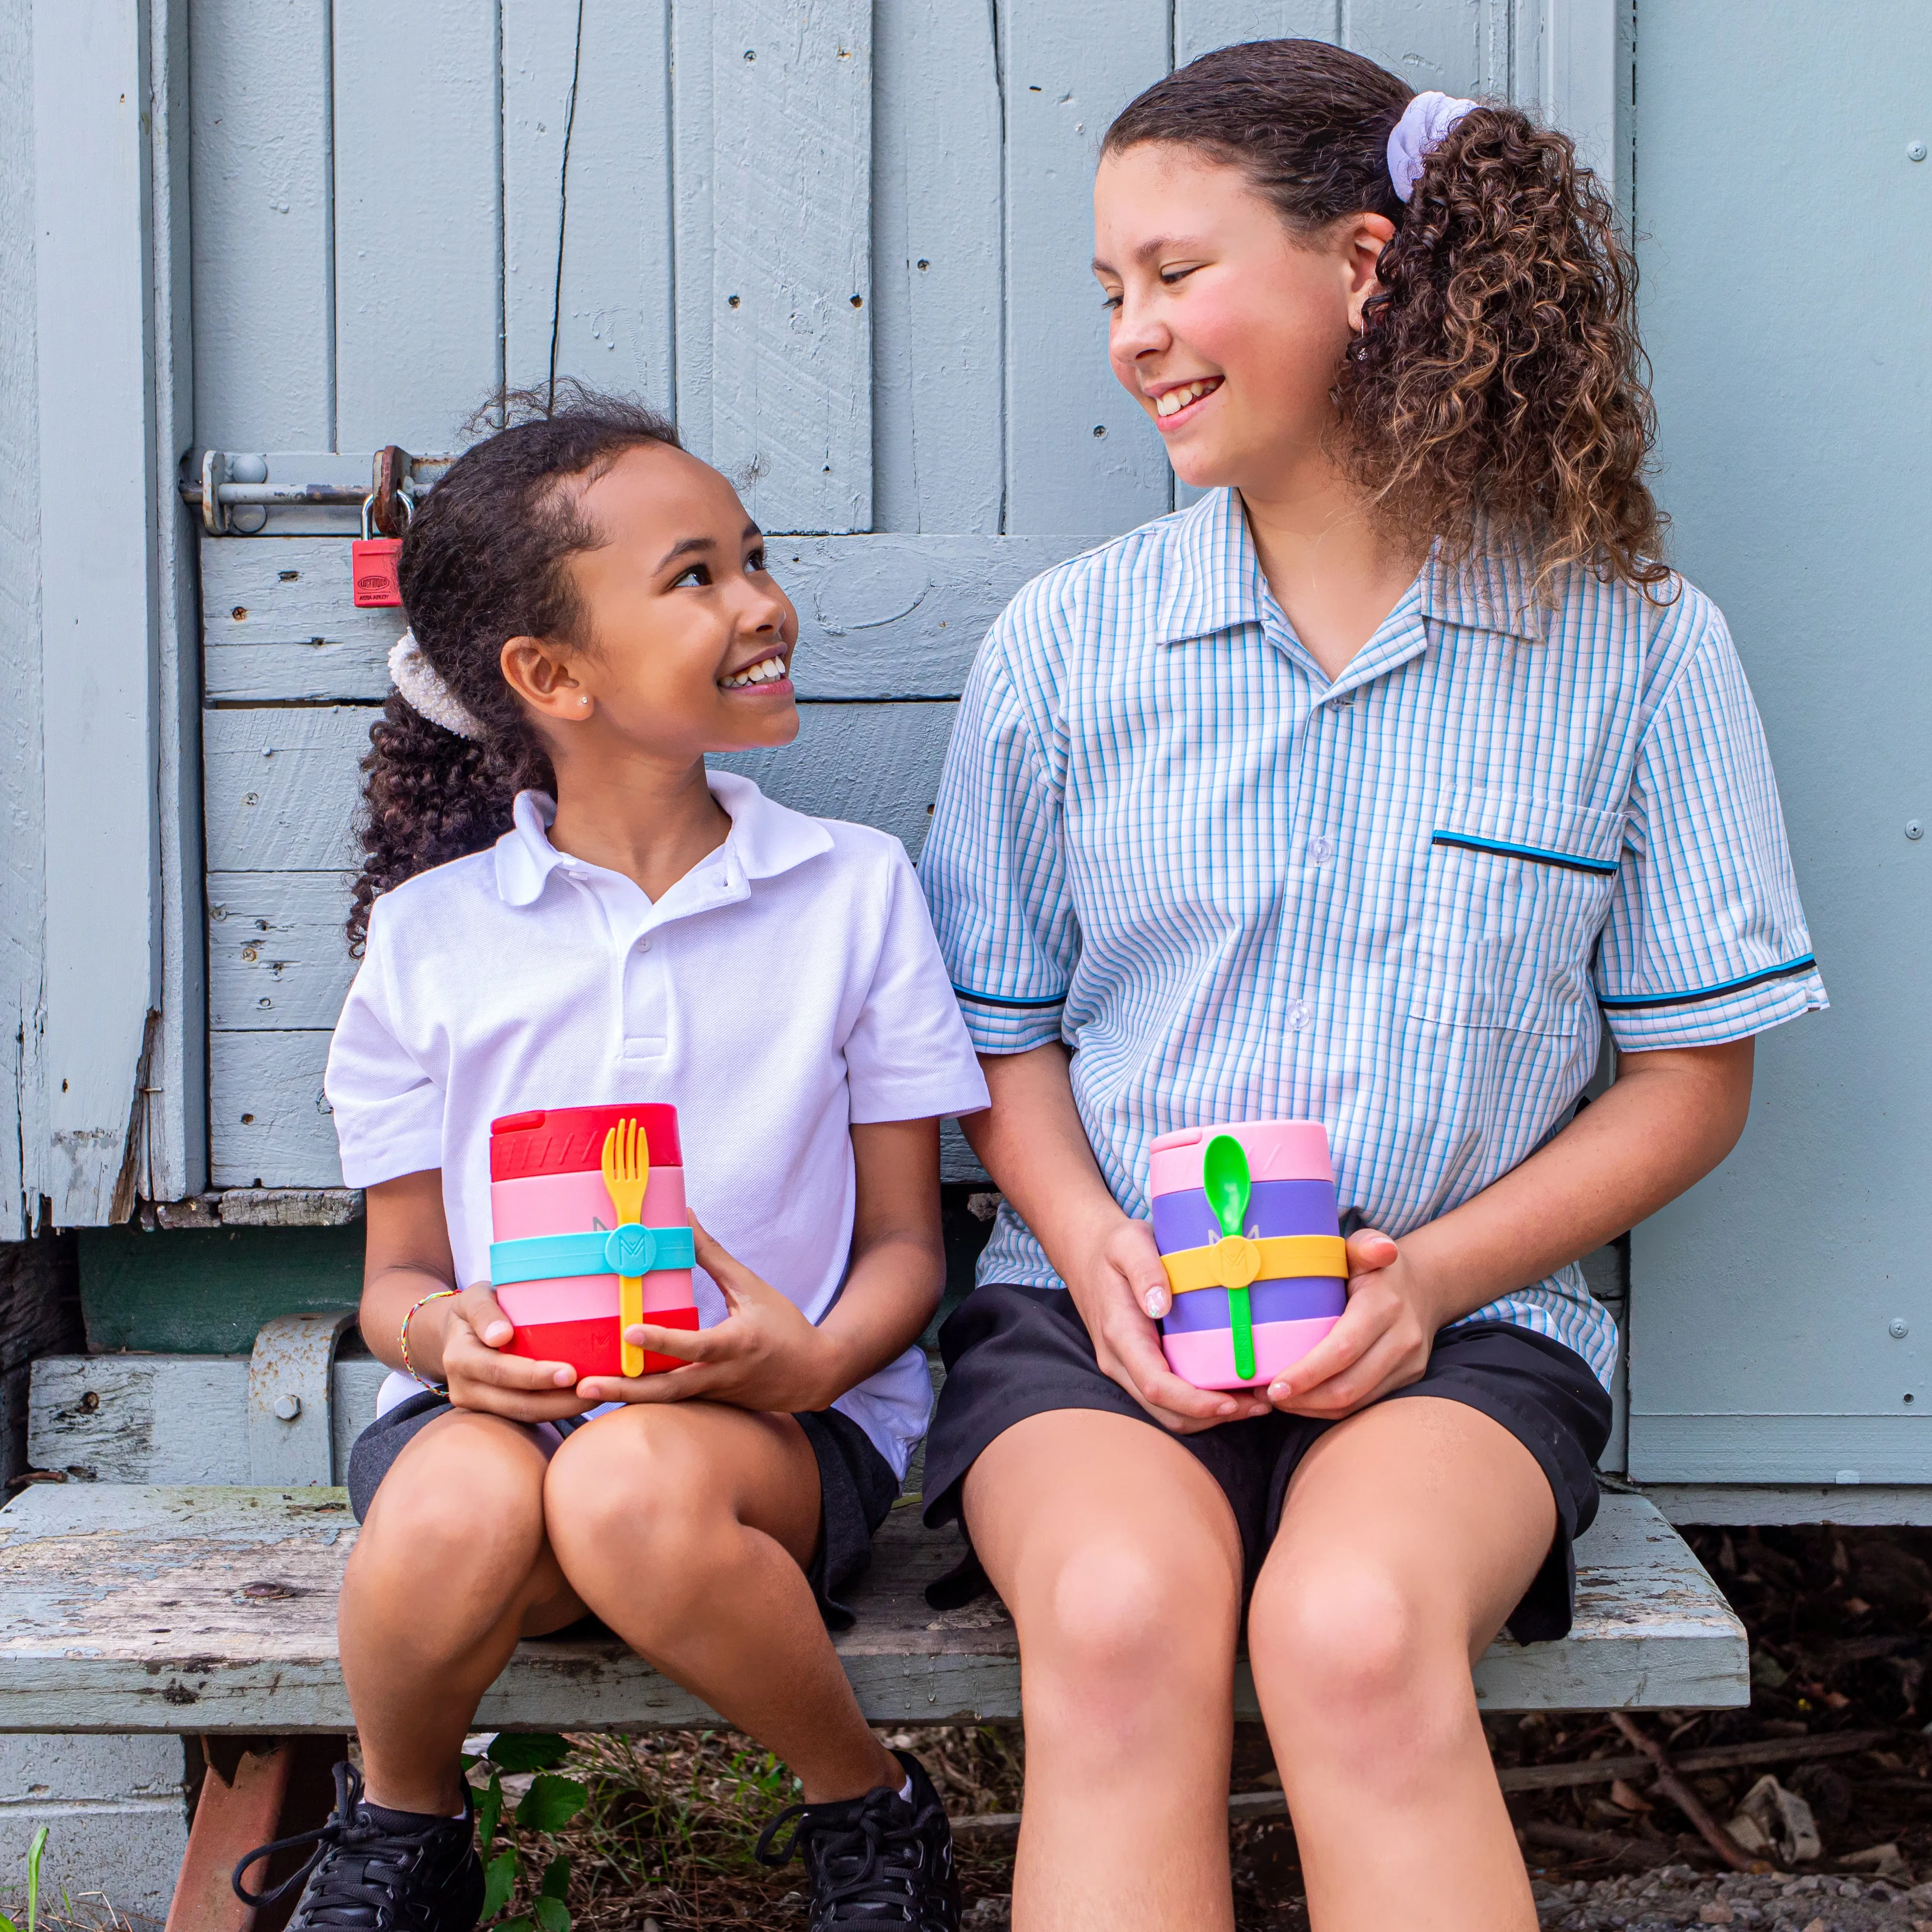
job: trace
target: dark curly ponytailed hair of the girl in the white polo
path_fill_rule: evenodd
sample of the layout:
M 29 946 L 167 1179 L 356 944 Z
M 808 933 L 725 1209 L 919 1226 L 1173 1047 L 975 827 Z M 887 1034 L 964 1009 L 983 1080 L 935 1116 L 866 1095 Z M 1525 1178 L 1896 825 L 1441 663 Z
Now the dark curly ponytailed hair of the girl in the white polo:
M 506 423 L 473 444 L 423 498 L 402 539 L 402 605 L 431 668 L 481 738 L 431 724 L 400 692 L 369 730 L 361 769 L 363 867 L 350 902 L 361 952 L 381 893 L 431 866 L 495 844 L 524 790 L 556 775 L 498 663 L 510 638 L 578 641 L 583 611 L 570 558 L 605 539 L 580 489 L 624 450 L 678 433 L 655 410 L 578 383 L 497 396 L 475 421 Z

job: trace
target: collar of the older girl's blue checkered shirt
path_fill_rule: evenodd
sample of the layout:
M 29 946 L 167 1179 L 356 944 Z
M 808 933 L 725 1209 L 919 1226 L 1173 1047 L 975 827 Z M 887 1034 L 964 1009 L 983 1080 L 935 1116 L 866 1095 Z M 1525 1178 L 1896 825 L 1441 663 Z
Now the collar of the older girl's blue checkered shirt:
M 1236 491 L 1209 491 L 1182 514 L 1180 562 L 1161 585 L 1151 643 L 1194 643 L 1262 622 L 1262 558 Z M 1517 545 L 1478 543 L 1463 564 L 1445 562 L 1437 545 L 1416 587 L 1420 614 L 1439 624 L 1528 643 L 1548 636 L 1536 605 L 1536 566 Z

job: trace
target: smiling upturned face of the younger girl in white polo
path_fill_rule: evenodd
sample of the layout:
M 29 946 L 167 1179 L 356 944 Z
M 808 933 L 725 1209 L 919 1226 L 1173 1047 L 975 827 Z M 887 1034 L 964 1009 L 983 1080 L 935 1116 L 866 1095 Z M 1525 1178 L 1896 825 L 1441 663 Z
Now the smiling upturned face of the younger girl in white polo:
M 790 744 L 798 612 L 765 570 L 765 539 L 709 464 L 665 444 L 624 450 L 580 489 L 603 543 L 570 572 L 582 639 L 512 638 L 502 672 L 553 757 Z

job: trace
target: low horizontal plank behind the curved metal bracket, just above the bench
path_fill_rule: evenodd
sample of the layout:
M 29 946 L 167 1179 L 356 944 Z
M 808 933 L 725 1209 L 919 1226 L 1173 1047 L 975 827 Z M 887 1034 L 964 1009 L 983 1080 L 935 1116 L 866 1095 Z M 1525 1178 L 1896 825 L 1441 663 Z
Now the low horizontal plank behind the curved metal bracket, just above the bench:
M 330 1453 L 348 1468 L 388 1370 L 350 1356 L 330 1372 Z M 245 1354 L 58 1354 L 33 1364 L 27 1457 L 83 1482 L 247 1480 Z

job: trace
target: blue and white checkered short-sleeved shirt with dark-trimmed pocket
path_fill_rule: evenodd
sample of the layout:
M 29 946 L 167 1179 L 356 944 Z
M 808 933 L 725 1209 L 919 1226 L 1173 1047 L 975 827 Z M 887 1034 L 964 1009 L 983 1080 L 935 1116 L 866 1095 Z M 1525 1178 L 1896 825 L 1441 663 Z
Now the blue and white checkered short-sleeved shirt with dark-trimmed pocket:
M 1716 607 L 1432 558 L 1333 684 L 1233 491 L 1036 578 L 974 665 L 920 873 L 981 1053 L 1063 1039 L 1099 1169 L 1327 1124 L 1401 1236 L 1571 1115 L 1621 1049 L 1824 1007 L 1777 788 Z M 981 1281 L 1061 1287 L 1003 1208 Z M 1478 1308 L 1617 1337 L 1580 1267 Z

